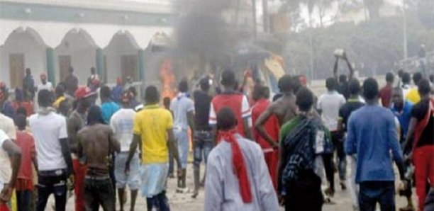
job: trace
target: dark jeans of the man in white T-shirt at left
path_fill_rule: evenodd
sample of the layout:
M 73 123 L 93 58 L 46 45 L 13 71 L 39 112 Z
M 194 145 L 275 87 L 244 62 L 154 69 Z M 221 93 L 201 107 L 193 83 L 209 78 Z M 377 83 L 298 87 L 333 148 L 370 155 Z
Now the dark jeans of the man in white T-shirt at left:
M 38 203 L 36 210 L 44 211 L 48 197 L 55 196 L 56 211 L 64 211 L 67 201 L 67 176 L 65 170 L 40 171 L 38 176 Z

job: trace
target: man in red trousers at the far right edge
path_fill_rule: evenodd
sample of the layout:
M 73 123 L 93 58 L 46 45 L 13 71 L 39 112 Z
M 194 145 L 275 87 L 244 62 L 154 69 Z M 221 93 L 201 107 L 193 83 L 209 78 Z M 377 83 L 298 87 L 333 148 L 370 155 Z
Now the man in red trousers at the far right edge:
M 413 138 L 413 157 L 416 179 L 418 208 L 423 210 L 427 181 L 434 187 L 434 98 L 430 98 L 430 82 L 422 79 L 418 83 L 421 101 L 413 105 L 410 126 L 405 146 Z

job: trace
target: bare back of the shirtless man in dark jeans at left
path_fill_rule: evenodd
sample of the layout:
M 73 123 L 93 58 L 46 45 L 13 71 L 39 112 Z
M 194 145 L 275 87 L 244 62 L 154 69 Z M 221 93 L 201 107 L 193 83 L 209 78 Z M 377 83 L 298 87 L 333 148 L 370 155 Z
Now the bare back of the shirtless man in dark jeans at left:
M 86 126 L 79 131 L 79 154 L 86 158 L 89 176 L 108 176 L 110 155 L 120 150 L 113 131 L 108 125 Z

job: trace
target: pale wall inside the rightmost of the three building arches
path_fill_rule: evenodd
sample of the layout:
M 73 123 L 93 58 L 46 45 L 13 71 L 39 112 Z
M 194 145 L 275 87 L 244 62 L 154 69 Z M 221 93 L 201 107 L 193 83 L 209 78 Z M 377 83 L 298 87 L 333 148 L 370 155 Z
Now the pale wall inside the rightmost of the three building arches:
M 116 83 L 116 78 L 121 77 L 121 55 L 138 55 L 135 48 L 126 35 L 114 35 L 109 46 L 104 49 L 107 59 L 107 84 Z

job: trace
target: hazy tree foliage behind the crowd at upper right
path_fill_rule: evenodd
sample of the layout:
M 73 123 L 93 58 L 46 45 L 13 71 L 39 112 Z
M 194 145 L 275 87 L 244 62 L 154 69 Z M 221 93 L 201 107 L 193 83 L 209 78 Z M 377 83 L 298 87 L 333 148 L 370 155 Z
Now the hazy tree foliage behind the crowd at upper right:
M 416 18 L 408 18 L 408 56 L 417 54 L 421 44 L 434 49 L 434 30 L 426 28 Z M 402 17 L 378 18 L 355 25 L 337 23 L 328 28 L 304 30 L 285 36 L 282 49 L 285 68 L 296 74 L 310 76 L 310 36 L 312 35 L 313 79 L 330 76 L 336 48 L 346 50 L 348 58 L 362 76 L 384 74 L 395 70 L 403 59 Z M 280 50 L 277 50 L 278 52 Z M 347 71 L 343 62 L 340 69 Z

